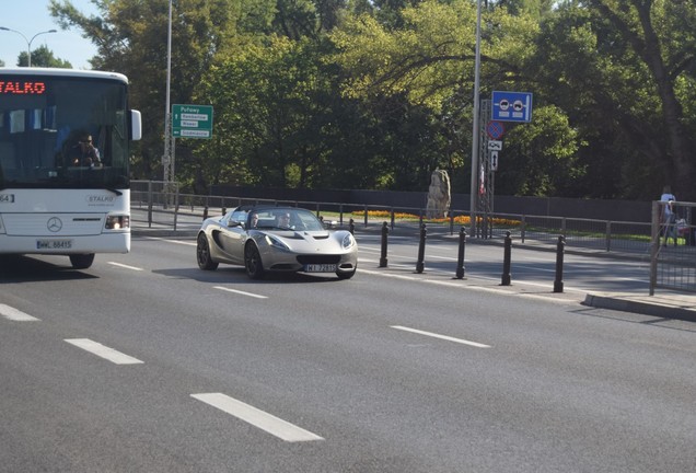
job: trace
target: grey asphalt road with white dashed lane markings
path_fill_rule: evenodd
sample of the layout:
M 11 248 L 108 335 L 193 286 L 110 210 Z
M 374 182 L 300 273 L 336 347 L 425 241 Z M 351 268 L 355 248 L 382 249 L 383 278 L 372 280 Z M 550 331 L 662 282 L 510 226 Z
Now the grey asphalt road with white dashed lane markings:
M 567 255 L 557 295 L 553 254 L 507 288 L 499 246 L 454 279 L 446 242 L 416 274 L 359 241 L 347 281 L 201 272 L 193 239 L 2 258 L 0 471 L 694 471 L 696 326 L 580 304 L 639 263 Z

